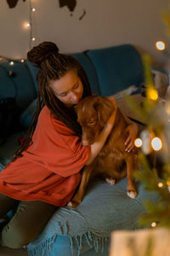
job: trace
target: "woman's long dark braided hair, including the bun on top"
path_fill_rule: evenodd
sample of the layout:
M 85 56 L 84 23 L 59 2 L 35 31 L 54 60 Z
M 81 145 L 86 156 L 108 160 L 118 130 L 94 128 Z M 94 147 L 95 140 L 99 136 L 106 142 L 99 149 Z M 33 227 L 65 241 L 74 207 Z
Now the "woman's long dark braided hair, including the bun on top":
M 21 157 L 22 152 L 31 145 L 32 136 L 37 125 L 37 119 L 44 105 L 48 107 L 56 119 L 63 122 L 67 127 L 74 131 L 75 135 L 78 137 L 82 136 L 82 128 L 77 123 L 77 114 L 75 113 L 74 108 L 67 108 L 65 104 L 60 102 L 54 95 L 54 91 L 49 86 L 51 80 L 60 79 L 68 71 L 74 70 L 82 81 L 82 98 L 92 94 L 88 77 L 81 64 L 72 55 L 60 54 L 56 44 L 52 42 L 43 42 L 42 44 L 33 47 L 27 53 L 27 59 L 34 66 L 39 68 L 37 72 L 37 107 L 31 119 L 31 124 L 25 140 L 14 154 L 12 161 Z

